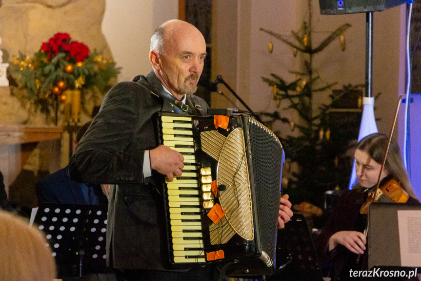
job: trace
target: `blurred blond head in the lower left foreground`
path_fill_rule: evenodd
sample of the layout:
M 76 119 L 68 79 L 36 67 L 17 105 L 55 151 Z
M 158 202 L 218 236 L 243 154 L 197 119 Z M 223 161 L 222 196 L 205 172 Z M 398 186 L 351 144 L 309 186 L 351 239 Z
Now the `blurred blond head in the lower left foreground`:
M 43 233 L 0 211 L 0 280 L 52 281 L 56 264 Z

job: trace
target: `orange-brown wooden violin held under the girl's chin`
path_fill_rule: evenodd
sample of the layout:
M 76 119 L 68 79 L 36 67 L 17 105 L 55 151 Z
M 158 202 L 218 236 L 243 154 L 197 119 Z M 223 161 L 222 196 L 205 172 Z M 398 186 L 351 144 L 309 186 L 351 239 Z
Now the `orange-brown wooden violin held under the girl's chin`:
M 391 175 L 381 180 L 380 187 L 373 196 L 373 191 L 368 194 L 367 200 L 362 204 L 360 214 L 368 214 L 368 206 L 373 202 L 390 202 L 390 203 L 406 203 L 408 201 L 408 193 L 401 187 Z

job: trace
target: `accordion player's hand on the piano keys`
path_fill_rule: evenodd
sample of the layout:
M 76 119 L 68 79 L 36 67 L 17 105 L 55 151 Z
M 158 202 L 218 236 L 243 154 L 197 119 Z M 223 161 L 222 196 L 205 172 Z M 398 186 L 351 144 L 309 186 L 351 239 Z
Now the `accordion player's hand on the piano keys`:
M 149 153 L 151 156 L 152 169 L 164 174 L 167 181 L 173 181 L 174 176 L 181 176 L 181 169 L 184 168 L 184 157 L 179 151 L 160 145 L 159 147 L 150 150 Z

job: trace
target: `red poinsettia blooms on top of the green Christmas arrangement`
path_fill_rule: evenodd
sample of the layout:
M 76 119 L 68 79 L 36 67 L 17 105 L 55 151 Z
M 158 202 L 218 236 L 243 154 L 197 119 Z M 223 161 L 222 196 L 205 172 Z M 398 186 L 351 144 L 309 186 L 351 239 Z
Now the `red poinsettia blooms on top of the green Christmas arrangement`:
M 88 46 L 77 41 L 70 41 L 68 33 L 56 33 L 48 42 L 42 43 L 41 50 L 49 59 L 54 59 L 60 52 L 65 52 L 68 61 L 75 57 L 76 62 L 83 62 L 89 55 Z

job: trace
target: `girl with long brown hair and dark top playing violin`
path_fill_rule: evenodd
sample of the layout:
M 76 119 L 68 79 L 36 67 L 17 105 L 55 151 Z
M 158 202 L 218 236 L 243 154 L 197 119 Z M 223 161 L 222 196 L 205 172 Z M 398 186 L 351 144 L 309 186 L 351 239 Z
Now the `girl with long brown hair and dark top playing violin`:
M 315 240 L 321 266 L 326 268 L 330 266 L 329 277 L 332 281 L 364 280 L 364 278 L 352 279 L 349 272 L 351 269 L 368 269 L 367 241 L 363 235 L 367 216 L 361 215 L 360 209 L 368 197 L 368 192 L 377 184 L 387 143 L 387 135 L 374 133 L 357 144 L 354 157 L 359 183 L 352 190 L 343 192 L 321 234 Z M 398 143 L 394 139 L 390 143 L 381 179 L 385 179 L 386 176 L 393 177 L 401 184 L 409 195 L 407 203 L 419 203 L 405 172 Z M 357 263 L 359 254 L 361 258 Z

